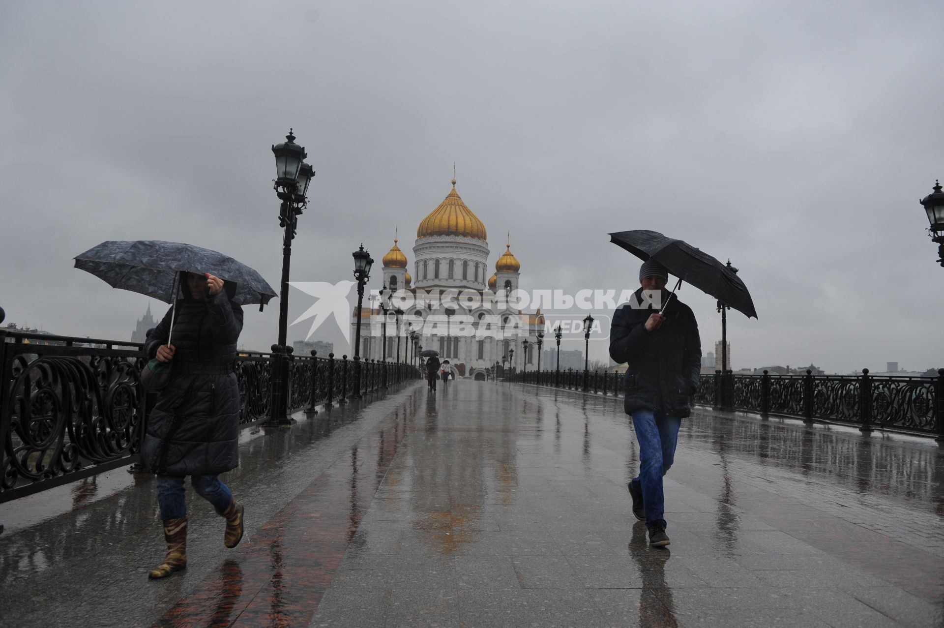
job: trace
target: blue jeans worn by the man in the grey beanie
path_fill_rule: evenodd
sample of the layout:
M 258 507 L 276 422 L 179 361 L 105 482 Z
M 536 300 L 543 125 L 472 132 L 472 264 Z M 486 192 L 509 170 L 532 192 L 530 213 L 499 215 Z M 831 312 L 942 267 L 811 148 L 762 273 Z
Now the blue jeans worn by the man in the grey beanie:
M 632 413 L 632 428 L 639 441 L 639 475 L 632 479 L 633 488 L 642 488 L 646 504 L 646 527 L 654 524 L 666 527 L 664 518 L 666 496 L 662 478 L 675 460 L 675 446 L 679 442 L 682 419 L 651 410 Z

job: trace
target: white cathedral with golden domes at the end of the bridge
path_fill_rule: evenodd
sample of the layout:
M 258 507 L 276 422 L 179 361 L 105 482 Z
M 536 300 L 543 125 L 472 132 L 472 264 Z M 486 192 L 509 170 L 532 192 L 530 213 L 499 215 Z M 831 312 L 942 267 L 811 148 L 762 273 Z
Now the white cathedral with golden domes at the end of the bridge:
M 435 349 L 440 360 L 449 361 L 456 379 L 486 380 L 503 368 L 537 367 L 537 333 L 544 331 L 544 316 L 540 310 L 527 314 L 514 308 L 510 296 L 520 289 L 521 264 L 512 254 L 511 243 L 489 277 L 485 225 L 456 192 L 455 179 L 446 199 L 416 229 L 413 276 L 397 243 L 394 238 L 393 248 L 383 256 L 379 299 L 363 304 L 364 359 L 383 358 L 385 307 L 388 361 L 397 360 L 398 339 L 401 362 L 410 362 L 415 348 Z M 397 309 L 401 314 L 396 314 Z M 356 333 L 355 309 L 351 338 Z

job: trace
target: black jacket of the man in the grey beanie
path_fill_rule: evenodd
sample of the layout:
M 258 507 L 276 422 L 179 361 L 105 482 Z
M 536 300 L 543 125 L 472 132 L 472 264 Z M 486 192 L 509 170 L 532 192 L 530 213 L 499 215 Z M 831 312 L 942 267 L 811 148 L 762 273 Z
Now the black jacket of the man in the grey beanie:
M 610 330 L 610 357 L 626 363 L 626 414 L 636 410 L 662 411 L 683 418 L 691 414 L 690 399 L 699 386 L 701 341 L 691 308 L 672 297 L 663 314 L 662 327 L 646 331 L 649 314 L 658 310 L 642 300 L 642 288 L 633 294 L 635 303 L 620 305 Z

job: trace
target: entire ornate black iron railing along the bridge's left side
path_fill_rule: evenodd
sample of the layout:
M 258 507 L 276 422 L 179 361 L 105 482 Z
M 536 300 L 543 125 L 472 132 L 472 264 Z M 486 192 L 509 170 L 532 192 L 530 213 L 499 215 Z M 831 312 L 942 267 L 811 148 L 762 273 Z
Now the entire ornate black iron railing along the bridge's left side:
M 273 356 L 235 363 L 240 422 L 269 417 Z M 0 330 L 0 502 L 135 463 L 157 395 L 140 381 L 143 346 Z M 289 355 L 289 412 L 345 402 L 386 382 L 414 380 L 410 365 L 366 361 L 361 389 L 344 356 Z

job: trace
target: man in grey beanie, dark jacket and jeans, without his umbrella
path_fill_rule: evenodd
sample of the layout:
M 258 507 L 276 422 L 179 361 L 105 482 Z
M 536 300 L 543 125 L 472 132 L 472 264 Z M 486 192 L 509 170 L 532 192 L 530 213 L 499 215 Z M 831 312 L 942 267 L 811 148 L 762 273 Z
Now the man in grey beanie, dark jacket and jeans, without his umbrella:
M 665 266 L 643 263 L 641 287 L 631 303 L 616 309 L 610 334 L 610 357 L 627 366 L 623 406 L 639 442 L 639 475 L 629 484 L 632 514 L 646 521 L 653 547 L 669 542 L 662 478 L 675 458 L 682 419 L 691 414 L 701 365 L 699 327 L 691 309 L 673 295 L 659 314 L 669 296 L 667 281 Z

